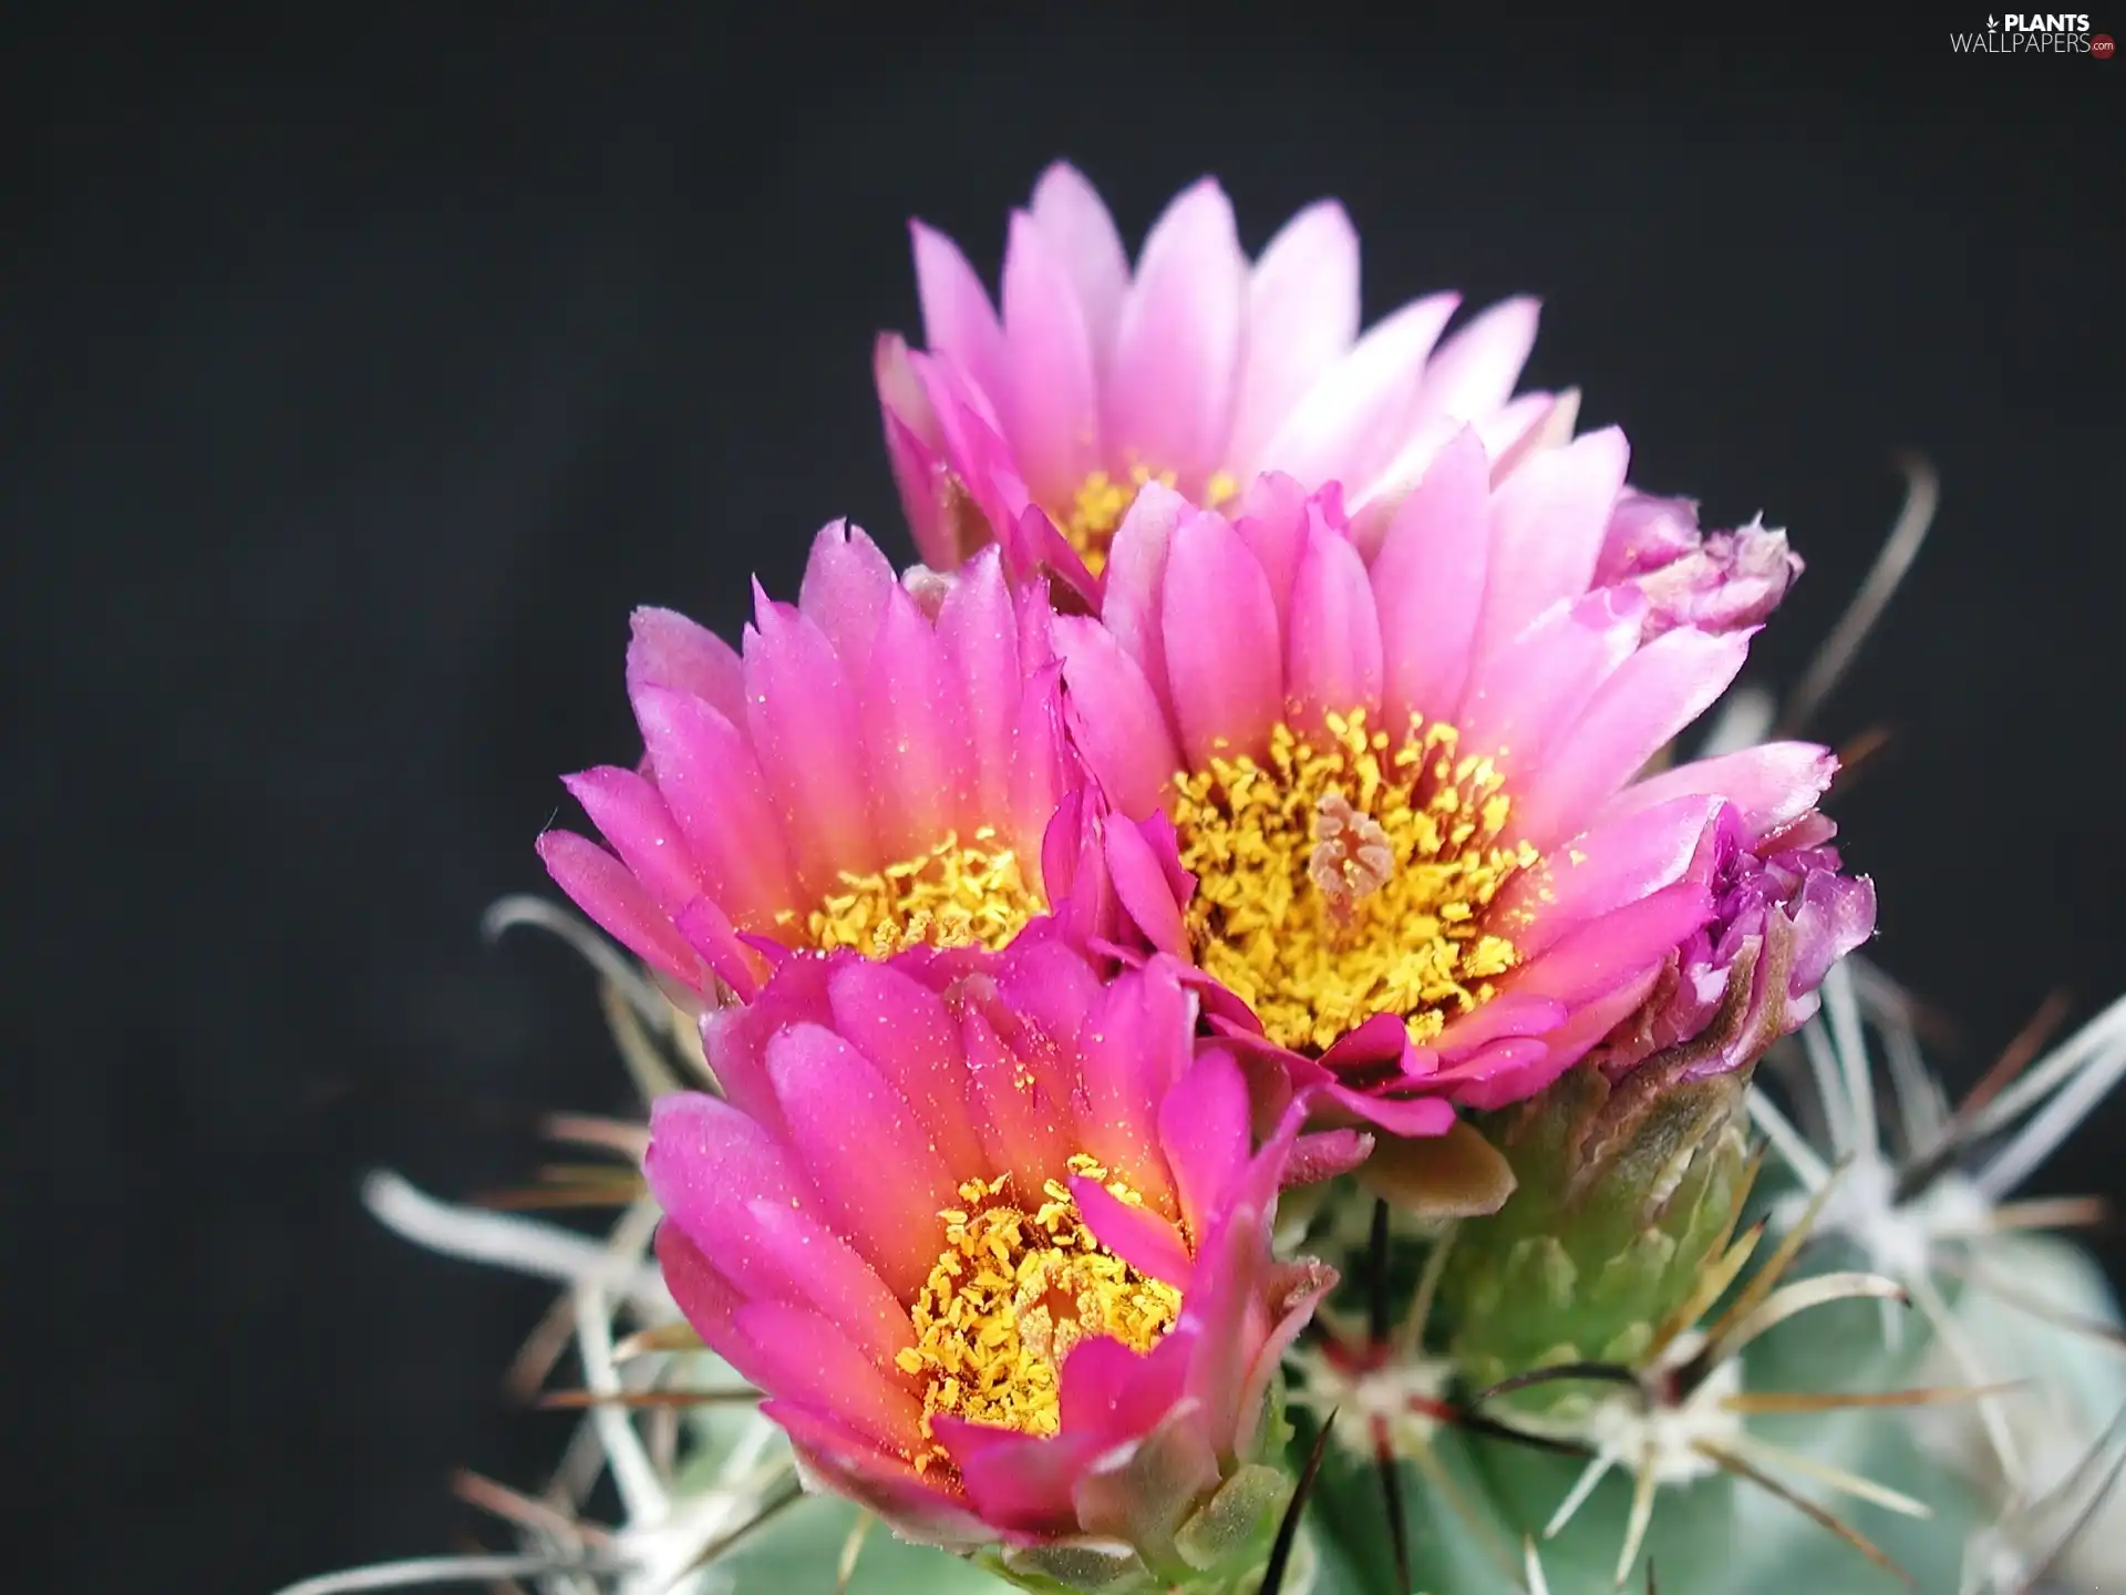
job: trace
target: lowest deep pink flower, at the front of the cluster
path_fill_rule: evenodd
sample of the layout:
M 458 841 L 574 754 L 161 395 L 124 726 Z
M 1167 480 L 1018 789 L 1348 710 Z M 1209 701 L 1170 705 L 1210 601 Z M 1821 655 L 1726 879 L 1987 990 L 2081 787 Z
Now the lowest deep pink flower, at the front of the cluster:
M 1301 1110 L 1256 1144 L 1180 976 L 844 948 L 704 1023 L 725 1097 L 657 1104 L 657 1253 L 810 1480 L 1018 1574 L 1259 1565 L 1271 1382 L 1335 1276 L 1271 1259 Z

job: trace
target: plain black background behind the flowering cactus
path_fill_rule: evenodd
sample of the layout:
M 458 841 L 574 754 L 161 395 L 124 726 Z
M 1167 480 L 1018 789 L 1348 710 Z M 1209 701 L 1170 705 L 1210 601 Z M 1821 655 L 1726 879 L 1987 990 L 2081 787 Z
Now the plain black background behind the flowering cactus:
M 1054 155 L 1131 240 L 1205 170 L 1250 247 L 1337 194 L 1369 317 L 1541 293 L 1533 383 L 1807 555 L 1756 678 L 1926 449 L 1937 538 L 1822 725 L 1896 732 L 1837 804 L 1875 955 L 1964 1070 L 2126 985 L 2126 62 L 1952 57 L 1975 11 L 1220 11 L 17 21 L 11 1578 L 266 1591 L 449 1548 L 453 1465 L 538 1476 L 497 1374 L 546 1293 L 357 1178 L 508 1185 L 540 1110 L 619 1106 L 589 980 L 478 912 L 544 887 L 555 774 L 634 757 L 631 604 L 736 634 L 844 513 L 906 555 L 867 381 L 904 221 L 993 272 Z M 2122 1136 L 2043 1189 L 2117 1191 Z

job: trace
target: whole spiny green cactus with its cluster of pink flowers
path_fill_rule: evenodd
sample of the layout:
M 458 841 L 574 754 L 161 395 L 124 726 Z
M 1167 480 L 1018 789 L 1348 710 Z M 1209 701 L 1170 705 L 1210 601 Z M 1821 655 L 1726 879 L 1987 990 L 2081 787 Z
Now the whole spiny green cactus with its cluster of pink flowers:
M 923 564 L 838 523 L 738 647 L 638 610 L 640 759 L 540 838 L 612 940 L 500 917 L 642 1091 L 555 1127 L 610 1242 L 370 1187 L 568 1287 L 519 1378 L 572 1346 L 585 1440 L 466 1480 L 512 1550 L 302 1589 L 2126 1576 L 2090 1204 L 2009 1199 L 2126 1006 L 1945 1102 L 1837 757 L 1731 691 L 1786 536 L 1516 396 L 1531 302 L 1361 336 L 1335 204 L 1250 262 L 1205 181 L 1131 268 L 1057 166 L 1001 310 L 914 253 Z

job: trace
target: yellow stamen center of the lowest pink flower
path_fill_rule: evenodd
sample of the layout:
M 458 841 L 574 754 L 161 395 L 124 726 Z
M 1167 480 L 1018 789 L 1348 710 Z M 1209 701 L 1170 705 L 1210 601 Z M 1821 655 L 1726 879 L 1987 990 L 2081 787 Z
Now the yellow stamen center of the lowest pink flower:
M 1084 1153 L 1069 1168 L 1131 1206 L 1144 1202 Z M 910 1308 L 916 1344 L 895 1357 L 925 1382 L 925 1433 L 933 1412 L 948 1412 L 1050 1435 L 1063 1421 L 1057 1393 L 1072 1346 L 1112 1336 L 1150 1350 L 1180 1316 L 1182 1293 L 1101 1246 L 1067 1185 L 1048 1180 L 1031 1212 L 1006 1197 L 1008 1187 L 1008 1174 L 967 1180 L 965 1206 L 938 1214 L 946 1244 Z M 916 1457 L 916 1472 L 933 1461 L 940 1450 Z

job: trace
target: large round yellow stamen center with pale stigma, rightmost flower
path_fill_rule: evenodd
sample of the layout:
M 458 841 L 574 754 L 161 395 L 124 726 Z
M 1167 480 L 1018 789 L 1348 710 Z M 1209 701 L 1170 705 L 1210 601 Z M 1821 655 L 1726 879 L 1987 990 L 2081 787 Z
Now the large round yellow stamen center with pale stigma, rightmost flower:
M 1320 746 L 1280 723 L 1267 763 L 1174 778 L 1197 963 L 1280 1046 L 1324 1051 L 1382 1012 L 1422 1044 L 1518 961 L 1484 908 L 1537 853 L 1501 844 L 1505 778 L 1458 742 L 1412 719 L 1390 744 L 1354 710 Z

